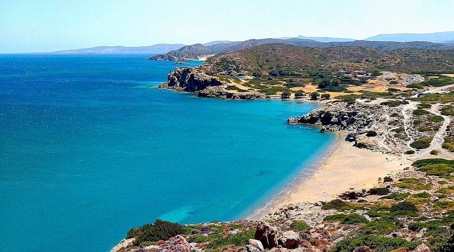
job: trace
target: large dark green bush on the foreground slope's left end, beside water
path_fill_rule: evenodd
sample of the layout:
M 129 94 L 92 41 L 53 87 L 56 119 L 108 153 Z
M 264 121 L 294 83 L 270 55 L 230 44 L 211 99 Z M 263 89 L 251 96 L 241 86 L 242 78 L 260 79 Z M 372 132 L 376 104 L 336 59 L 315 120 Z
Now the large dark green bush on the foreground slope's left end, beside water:
M 131 228 L 126 235 L 126 238 L 136 237 L 134 239 L 134 245 L 137 246 L 144 241 L 166 240 L 177 234 L 183 234 L 184 231 L 184 226 L 178 223 L 157 219 L 153 224 L 147 223 L 141 227 Z

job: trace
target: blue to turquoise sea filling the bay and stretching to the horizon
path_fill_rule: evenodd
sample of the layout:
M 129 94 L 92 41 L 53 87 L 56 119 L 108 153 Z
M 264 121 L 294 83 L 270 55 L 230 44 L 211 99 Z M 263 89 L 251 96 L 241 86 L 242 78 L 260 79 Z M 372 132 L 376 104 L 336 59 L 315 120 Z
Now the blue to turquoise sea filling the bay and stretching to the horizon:
M 334 140 L 285 123 L 318 104 L 155 88 L 176 66 L 148 56 L 0 55 L 1 251 L 108 251 L 157 218 L 246 218 Z

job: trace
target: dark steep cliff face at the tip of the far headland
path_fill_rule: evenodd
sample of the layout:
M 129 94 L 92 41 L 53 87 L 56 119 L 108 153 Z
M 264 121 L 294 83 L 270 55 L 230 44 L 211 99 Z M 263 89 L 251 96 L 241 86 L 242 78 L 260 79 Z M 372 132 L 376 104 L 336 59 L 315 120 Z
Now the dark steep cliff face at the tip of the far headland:
M 206 87 L 222 85 L 227 85 L 227 83 L 206 75 L 196 68 L 176 68 L 175 71 L 168 74 L 167 82 L 162 83 L 159 87 L 180 92 L 196 92 Z

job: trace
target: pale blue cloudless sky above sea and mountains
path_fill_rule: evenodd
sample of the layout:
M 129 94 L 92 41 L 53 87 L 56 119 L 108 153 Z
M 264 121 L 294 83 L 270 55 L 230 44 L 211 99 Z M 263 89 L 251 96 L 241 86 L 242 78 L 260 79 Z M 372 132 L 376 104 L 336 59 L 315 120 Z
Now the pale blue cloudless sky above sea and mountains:
M 0 0 L 0 53 L 454 31 L 452 0 Z

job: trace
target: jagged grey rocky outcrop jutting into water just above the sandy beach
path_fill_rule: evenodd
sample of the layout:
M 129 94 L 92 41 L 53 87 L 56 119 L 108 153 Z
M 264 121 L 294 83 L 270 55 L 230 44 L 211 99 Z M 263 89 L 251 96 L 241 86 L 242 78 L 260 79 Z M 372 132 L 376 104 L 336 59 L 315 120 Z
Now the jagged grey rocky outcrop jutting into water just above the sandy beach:
M 287 119 L 290 124 L 314 124 L 320 132 L 358 131 L 369 127 L 376 116 L 371 111 L 380 109 L 380 105 L 362 103 L 347 104 L 346 102 L 328 103 L 311 112 Z

